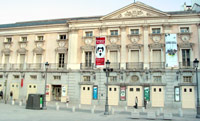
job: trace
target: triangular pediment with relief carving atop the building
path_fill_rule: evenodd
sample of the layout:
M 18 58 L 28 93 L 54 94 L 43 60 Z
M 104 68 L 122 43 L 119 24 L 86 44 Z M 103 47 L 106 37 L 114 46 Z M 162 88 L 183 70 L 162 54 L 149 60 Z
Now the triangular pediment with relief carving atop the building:
M 169 16 L 169 14 L 148 6 L 141 2 L 132 3 L 117 11 L 114 11 L 101 19 L 123 19 L 123 18 L 138 18 L 138 17 L 160 17 Z

